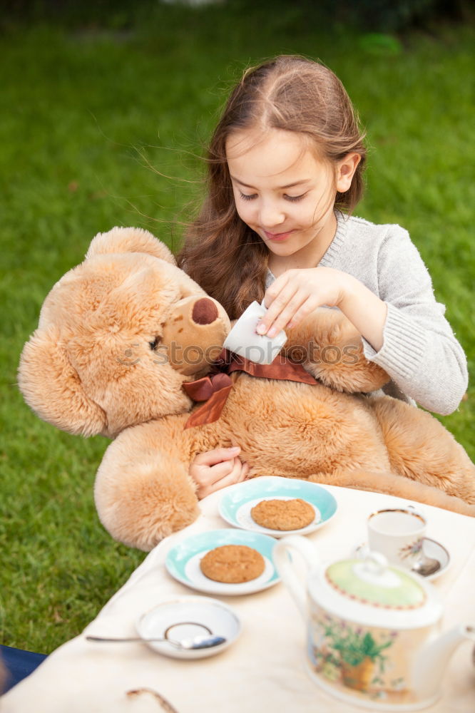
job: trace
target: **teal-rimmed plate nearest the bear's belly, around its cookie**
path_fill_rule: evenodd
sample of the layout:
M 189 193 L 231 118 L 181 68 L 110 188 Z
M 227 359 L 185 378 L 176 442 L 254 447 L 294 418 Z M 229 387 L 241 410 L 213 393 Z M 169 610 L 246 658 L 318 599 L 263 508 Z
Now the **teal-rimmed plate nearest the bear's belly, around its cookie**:
M 263 528 L 252 520 L 251 508 L 262 500 L 292 500 L 301 498 L 315 511 L 315 518 L 305 528 L 299 530 L 272 530 Z M 321 528 L 337 512 L 337 501 L 330 491 L 317 483 L 302 481 L 300 478 L 282 478 L 280 476 L 261 476 L 227 488 L 221 498 L 219 511 L 221 517 L 230 525 L 242 530 L 284 537 L 285 535 L 306 535 Z

